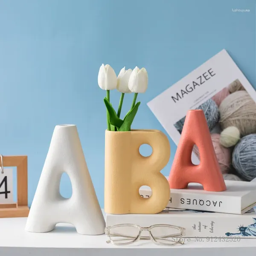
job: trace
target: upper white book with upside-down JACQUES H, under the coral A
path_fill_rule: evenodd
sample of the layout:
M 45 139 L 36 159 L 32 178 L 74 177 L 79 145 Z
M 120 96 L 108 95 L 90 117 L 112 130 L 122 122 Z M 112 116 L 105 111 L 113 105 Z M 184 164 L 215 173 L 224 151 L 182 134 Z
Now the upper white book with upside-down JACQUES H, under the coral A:
M 227 190 L 209 192 L 199 183 L 189 183 L 187 189 L 171 189 L 168 208 L 191 209 L 209 212 L 243 214 L 256 206 L 256 183 L 225 180 Z M 140 188 L 140 195 L 149 198 L 148 186 Z

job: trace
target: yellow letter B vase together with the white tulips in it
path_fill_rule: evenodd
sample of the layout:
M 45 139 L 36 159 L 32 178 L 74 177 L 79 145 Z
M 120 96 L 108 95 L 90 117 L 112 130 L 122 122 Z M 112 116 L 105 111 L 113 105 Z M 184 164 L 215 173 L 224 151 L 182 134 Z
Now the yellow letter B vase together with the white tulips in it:
M 105 212 L 111 214 L 161 212 L 170 198 L 169 183 L 160 171 L 169 161 L 170 144 L 165 134 L 157 130 L 131 130 L 140 102 L 138 93 L 145 93 L 148 87 L 148 73 L 143 68 L 120 70 L 119 75 L 110 65 L 99 69 L 98 84 L 107 95 L 104 103 L 107 109 L 108 130 L 105 133 Z M 120 93 L 118 111 L 111 104 L 110 91 Z M 131 109 L 121 119 L 123 99 L 126 93 L 134 93 Z M 143 157 L 140 146 L 148 144 L 152 154 Z M 139 194 L 141 186 L 152 189 L 150 198 Z

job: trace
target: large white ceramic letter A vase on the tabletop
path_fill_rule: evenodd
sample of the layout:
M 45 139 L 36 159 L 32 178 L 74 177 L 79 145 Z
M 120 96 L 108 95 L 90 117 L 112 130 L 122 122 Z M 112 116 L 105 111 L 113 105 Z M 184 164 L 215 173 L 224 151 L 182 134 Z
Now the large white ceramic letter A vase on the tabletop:
M 72 184 L 68 199 L 59 191 L 64 172 Z M 54 129 L 25 229 L 49 232 L 57 223 L 73 224 L 82 235 L 100 235 L 105 229 L 76 125 L 57 125 Z

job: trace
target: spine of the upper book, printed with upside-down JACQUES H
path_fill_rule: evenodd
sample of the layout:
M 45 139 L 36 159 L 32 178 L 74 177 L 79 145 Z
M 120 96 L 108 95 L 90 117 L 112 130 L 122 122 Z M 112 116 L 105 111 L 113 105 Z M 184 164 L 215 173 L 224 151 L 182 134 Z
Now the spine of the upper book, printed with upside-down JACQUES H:
M 150 189 L 140 189 L 143 198 L 149 198 Z M 167 208 L 190 209 L 208 212 L 241 214 L 241 200 L 238 197 L 209 195 L 204 193 L 184 193 L 171 189 L 171 197 Z

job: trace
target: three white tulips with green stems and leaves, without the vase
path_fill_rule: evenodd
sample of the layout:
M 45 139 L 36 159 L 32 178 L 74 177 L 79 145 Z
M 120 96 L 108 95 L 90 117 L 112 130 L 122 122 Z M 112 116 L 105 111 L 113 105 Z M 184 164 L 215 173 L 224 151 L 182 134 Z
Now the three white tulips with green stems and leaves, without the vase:
M 145 93 L 148 87 L 147 70 L 144 67 L 125 70 L 124 67 L 116 77 L 116 73 L 110 65 L 102 64 L 99 69 L 98 84 L 101 89 L 107 91 L 104 103 L 107 108 L 108 131 L 131 131 L 131 124 L 140 106 L 140 102 L 136 103 L 138 93 Z M 122 93 L 117 113 L 110 103 L 110 90 L 114 89 Z M 125 93 L 134 93 L 134 99 L 130 111 L 124 119 L 120 119 Z

